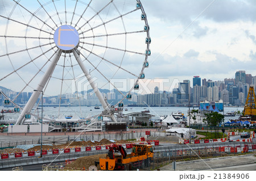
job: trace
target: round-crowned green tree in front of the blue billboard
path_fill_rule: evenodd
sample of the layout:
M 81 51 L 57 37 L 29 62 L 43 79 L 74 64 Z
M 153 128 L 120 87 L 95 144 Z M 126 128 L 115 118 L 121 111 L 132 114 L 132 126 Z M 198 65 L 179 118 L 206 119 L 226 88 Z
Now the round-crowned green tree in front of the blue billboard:
M 224 115 L 221 115 L 218 112 L 205 113 L 204 122 L 206 122 L 210 127 L 214 127 L 214 136 L 217 138 L 217 126 L 224 121 Z

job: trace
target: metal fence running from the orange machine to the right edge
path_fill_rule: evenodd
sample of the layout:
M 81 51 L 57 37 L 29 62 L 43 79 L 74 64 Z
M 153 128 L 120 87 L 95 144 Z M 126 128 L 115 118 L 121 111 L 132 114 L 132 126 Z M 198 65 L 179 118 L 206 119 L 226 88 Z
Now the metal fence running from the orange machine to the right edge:
M 190 146 L 190 145 L 189 145 Z M 155 151 L 154 157 L 141 161 L 140 164 L 133 164 L 133 170 L 157 170 L 160 167 L 168 165 L 174 161 L 189 161 L 192 159 L 206 159 L 214 157 L 226 157 L 232 155 L 243 154 L 244 152 L 256 153 L 255 143 L 232 143 L 212 144 L 212 145 L 193 145 L 189 148 L 187 145 L 167 146 L 162 150 Z M 246 150 L 235 148 L 249 148 Z M 253 147 L 254 146 L 254 147 Z M 224 147 L 228 149 L 223 149 Z M 233 150 L 230 148 L 234 148 Z M 254 149 L 253 149 L 254 148 Z

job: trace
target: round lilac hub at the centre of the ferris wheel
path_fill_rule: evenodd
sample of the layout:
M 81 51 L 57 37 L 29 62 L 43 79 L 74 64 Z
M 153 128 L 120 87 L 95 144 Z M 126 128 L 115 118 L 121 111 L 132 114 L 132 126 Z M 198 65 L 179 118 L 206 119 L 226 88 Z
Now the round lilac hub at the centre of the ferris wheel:
M 57 28 L 53 38 L 56 46 L 65 51 L 72 50 L 79 44 L 79 33 L 69 25 Z

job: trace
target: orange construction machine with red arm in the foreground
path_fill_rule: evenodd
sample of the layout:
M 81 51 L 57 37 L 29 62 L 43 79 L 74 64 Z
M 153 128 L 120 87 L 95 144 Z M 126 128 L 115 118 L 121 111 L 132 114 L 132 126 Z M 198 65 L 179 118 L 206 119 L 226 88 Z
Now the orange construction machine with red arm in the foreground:
M 115 153 L 121 153 L 117 155 Z M 106 159 L 100 158 L 95 165 L 100 165 L 101 170 L 131 170 L 132 165 L 148 165 L 153 158 L 152 145 L 133 144 L 133 152 L 127 154 L 121 145 L 110 145 Z

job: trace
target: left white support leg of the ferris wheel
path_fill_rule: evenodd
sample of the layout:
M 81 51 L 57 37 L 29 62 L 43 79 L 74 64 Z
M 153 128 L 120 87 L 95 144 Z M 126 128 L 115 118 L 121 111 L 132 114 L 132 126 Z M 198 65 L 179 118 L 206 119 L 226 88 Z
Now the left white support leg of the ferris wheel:
M 55 69 L 55 66 L 57 62 L 59 61 L 60 55 L 61 55 L 62 50 L 59 49 L 57 50 L 55 57 L 53 58 L 51 65 L 49 65 L 49 68 L 47 69 L 46 73 L 44 73 L 44 76 L 41 80 L 41 82 L 38 84 L 38 87 L 36 87 L 37 91 L 34 91 L 31 95 L 31 98 L 28 100 L 26 106 L 23 108 L 22 112 L 19 115 L 18 120 L 16 121 L 17 124 L 23 124 L 25 120 L 25 115 L 27 112 L 30 112 L 32 108 L 34 107 L 36 100 L 38 100 L 41 91 L 44 89 L 44 86 L 46 86 L 46 83 L 48 79 L 51 77 L 51 74 L 53 73 L 53 70 Z M 43 101 L 43 100 L 41 100 Z

